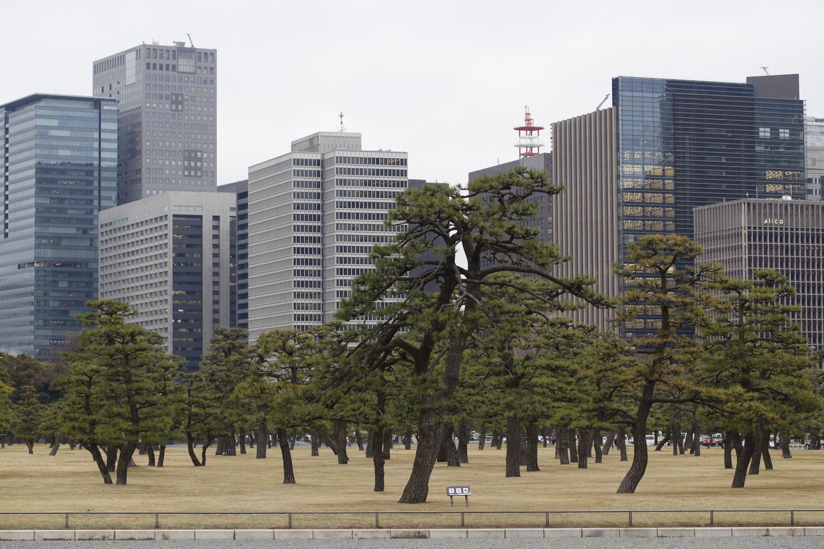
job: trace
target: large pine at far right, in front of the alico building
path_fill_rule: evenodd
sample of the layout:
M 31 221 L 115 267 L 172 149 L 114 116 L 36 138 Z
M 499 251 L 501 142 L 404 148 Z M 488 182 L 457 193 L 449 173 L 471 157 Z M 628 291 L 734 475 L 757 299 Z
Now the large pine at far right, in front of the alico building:
M 696 321 L 706 348 L 701 375 L 730 392 L 728 415 L 744 435 L 733 488 L 744 486 L 748 467 L 757 472 L 770 424 L 797 425 L 792 416 L 821 407 L 804 374 L 814 365 L 808 341 L 791 320 L 801 310 L 788 305 L 794 287 L 780 272 L 761 269 L 753 275 L 715 282 L 711 287 L 719 296 L 700 309 Z

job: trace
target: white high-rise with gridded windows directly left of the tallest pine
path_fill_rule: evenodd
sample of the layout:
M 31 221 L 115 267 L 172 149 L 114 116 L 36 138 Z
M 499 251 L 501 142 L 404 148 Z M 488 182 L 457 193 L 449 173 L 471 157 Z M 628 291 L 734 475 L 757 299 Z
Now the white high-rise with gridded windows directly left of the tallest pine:
M 318 132 L 249 168 L 249 336 L 335 317 L 407 187 L 407 153 L 362 151 L 361 134 Z

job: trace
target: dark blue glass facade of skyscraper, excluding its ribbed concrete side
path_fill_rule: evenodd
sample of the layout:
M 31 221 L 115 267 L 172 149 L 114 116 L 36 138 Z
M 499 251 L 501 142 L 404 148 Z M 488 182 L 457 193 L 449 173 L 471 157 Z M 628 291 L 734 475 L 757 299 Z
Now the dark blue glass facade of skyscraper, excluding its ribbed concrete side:
M 806 195 L 803 101 L 756 97 L 742 83 L 616 77 L 612 85 L 622 257 L 641 235 L 693 237 L 694 207 Z M 624 331 L 659 327 L 650 311 Z

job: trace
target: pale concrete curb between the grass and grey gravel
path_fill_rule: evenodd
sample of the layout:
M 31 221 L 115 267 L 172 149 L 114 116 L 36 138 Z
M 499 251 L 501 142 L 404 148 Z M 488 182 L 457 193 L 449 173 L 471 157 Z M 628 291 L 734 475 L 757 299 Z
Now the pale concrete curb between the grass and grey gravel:
M 824 536 L 824 527 L 769 528 L 395 528 L 246 530 L 0 530 L 0 542 L 56 540 L 466 539 L 525 537 Z

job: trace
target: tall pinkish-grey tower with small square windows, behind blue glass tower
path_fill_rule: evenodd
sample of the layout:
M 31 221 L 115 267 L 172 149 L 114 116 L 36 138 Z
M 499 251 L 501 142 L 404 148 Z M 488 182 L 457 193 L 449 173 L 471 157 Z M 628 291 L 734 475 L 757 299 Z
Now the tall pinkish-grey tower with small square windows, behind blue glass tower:
M 144 43 L 92 63 L 92 95 L 119 105 L 119 204 L 217 190 L 217 55 Z

